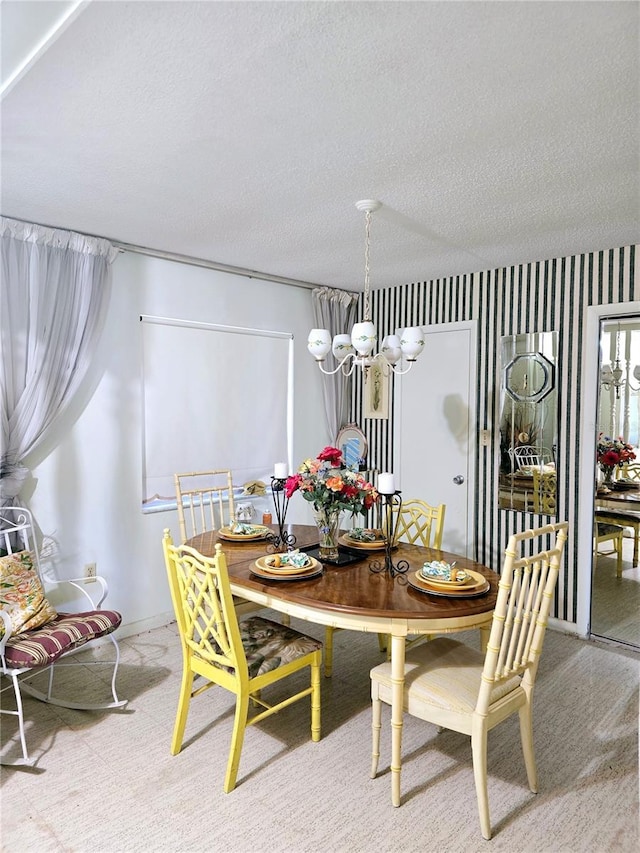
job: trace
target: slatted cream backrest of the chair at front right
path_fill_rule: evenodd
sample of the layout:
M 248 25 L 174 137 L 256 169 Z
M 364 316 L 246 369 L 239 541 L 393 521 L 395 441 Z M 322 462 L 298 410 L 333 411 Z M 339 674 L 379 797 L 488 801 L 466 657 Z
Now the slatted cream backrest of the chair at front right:
M 515 676 L 522 676 L 525 690 L 533 690 L 568 529 L 560 521 L 509 539 L 476 704 L 479 714 L 487 713 L 500 685 Z M 554 534 L 554 543 L 545 548 Z M 527 542 L 531 553 L 522 555 Z

